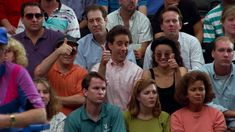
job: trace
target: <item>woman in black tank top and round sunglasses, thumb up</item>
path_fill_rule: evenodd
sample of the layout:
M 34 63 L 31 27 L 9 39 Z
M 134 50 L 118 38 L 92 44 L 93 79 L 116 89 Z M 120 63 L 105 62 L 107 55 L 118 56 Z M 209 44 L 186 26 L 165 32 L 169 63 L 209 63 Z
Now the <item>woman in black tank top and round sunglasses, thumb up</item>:
M 155 80 L 161 108 L 172 114 L 180 108 L 174 100 L 175 86 L 187 73 L 187 69 L 183 67 L 178 43 L 166 37 L 160 37 L 152 42 L 151 50 L 153 68 L 145 70 L 142 77 Z

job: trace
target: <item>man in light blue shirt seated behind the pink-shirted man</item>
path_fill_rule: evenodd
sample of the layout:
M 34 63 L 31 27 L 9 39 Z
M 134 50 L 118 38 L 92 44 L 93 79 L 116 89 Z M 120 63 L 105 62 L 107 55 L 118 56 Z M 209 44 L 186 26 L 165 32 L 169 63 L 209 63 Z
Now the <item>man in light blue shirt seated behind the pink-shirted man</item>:
M 102 47 L 106 45 L 106 36 L 108 33 L 105 28 L 107 13 L 103 7 L 91 5 L 87 7 L 85 15 L 91 34 L 82 37 L 78 41 L 79 46 L 75 64 L 79 64 L 90 71 L 95 64 L 100 62 Z M 128 59 L 135 62 L 133 52 L 130 52 Z

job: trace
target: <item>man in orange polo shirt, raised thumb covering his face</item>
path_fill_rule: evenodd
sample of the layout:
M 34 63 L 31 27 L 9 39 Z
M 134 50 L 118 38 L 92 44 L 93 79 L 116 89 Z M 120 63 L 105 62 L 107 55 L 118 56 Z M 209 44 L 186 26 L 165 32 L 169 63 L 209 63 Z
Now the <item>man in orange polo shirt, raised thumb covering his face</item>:
M 75 38 L 67 35 L 57 43 L 58 48 L 36 67 L 35 76 L 48 77 L 62 104 L 60 111 L 68 115 L 84 103 L 81 82 L 87 71 L 73 64 L 78 46 Z

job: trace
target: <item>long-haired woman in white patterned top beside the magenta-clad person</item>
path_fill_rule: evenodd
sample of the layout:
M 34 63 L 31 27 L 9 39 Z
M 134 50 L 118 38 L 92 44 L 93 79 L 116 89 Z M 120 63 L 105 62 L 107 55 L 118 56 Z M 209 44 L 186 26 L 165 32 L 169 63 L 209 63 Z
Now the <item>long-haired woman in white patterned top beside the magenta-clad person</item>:
M 33 81 L 46 106 L 47 120 L 50 123 L 50 129 L 43 132 L 63 132 L 66 116 L 59 112 L 61 105 L 50 83 L 45 78 L 35 78 Z

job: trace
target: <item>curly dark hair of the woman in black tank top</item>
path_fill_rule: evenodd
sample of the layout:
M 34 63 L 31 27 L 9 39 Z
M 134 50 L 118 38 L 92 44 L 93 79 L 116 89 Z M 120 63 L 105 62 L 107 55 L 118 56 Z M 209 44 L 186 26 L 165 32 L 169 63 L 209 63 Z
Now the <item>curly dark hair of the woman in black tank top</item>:
M 176 62 L 178 63 L 178 65 L 180 67 L 183 67 L 184 66 L 184 63 L 183 63 L 183 59 L 181 57 L 181 53 L 180 53 L 180 50 L 179 50 L 179 43 L 176 43 L 175 41 L 173 40 L 170 40 L 169 38 L 165 37 L 165 36 L 161 36 L 157 39 L 154 39 L 152 44 L 151 44 L 151 50 L 153 52 L 152 54 L 152 64 L 154 67 L 157 67 L 158 64 L 157 62 L 155 61 L 155 49 L 158 45 L 168 45 L 171 47 L 172 49 L 172 52 L 175 54 L 175 60 Z

